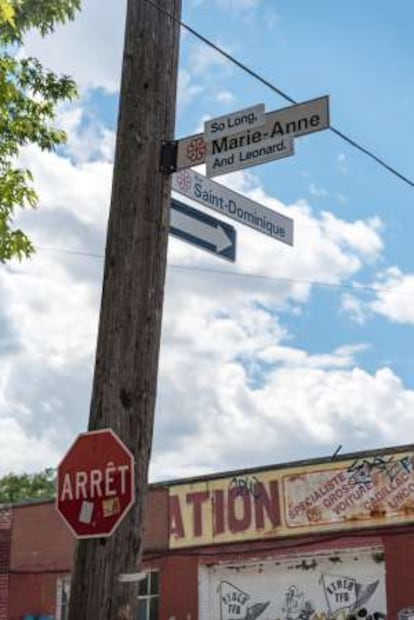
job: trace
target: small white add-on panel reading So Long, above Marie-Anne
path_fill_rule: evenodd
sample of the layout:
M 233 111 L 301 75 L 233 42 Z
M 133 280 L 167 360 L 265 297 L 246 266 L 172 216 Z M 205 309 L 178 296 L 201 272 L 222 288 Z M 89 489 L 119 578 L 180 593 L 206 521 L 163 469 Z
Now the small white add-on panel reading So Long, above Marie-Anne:
M 231 114 L 218 116 L 204 123 L 204 140 L 213 140 L 221 136 L 230 136 L 245 129 L 254 129 L 264 125 L 264 103 L 238 110 Z

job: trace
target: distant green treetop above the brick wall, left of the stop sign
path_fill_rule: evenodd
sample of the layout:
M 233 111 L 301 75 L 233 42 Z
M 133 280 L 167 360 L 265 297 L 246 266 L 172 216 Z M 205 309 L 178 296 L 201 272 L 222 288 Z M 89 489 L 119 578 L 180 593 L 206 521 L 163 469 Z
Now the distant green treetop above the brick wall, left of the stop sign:
M 53 499 L 56 470 L 47 468 L 37 474 L 7 474 L 0 478 L 0 504 L 30 499 Z

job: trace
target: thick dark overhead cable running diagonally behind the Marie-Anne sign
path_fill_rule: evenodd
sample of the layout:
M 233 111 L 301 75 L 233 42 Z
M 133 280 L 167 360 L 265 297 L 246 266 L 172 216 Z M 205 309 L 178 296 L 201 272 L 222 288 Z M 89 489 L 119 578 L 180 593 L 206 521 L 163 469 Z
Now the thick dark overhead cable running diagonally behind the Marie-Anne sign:
M 298 101 L 296 101 L 296 99 L 293 99 L 293 97 L 291 97 L 286 92 L 284 92 L 283 90 L 281 90 L 280 88 L 275 86 L 272 82 L 270 82 L 269 80 L 264 78 L 262 75 L 257 73 L 257 71 L 254 71 L 253 69 L 250 69 L 250 67 L 248 67 L 245 63 L 243 63 L 240 60 L 238 60 L 237 58 L 235 58 L 235 56 L 233 56 L 232 54 L 229 54 L 228 52 L 226 52 L 222 47 L 220 47 L 216 43 L 213 43 L 210 39 L 208 39 L 207 37 L 202 35 L 195 28 L 192 28 L 191 26 L 189 26 L 188 24 L 186 24 L 182 20 L 177 20 L 169 11 L 167 11 L 166 9 L 163 9 L 162 7 L 158 6 L 157 3 L 154 2 L 153 0 L 145 0 L 145 2 L 147 2 L 147 4 L 153 6 L 155 9 L 157 9 L 161 13 L 164 13 L 165 15 L 170 17 L 172 20 L 177 21 L 180 24 L 180 26 L 182 28 L 184 28 L 184 30 L 187 30 L 194 37 L 196 37 L 197 39 L 199 39 L 200 41 L 202 41 L 203 43 L 205 43 L 206 45 L 208 45 L 209 47 L 214 49 L 218 54 L 220 54 L 221 56 L 226 58 L 229 62 L 231 62 L 232 64 L 236 65 L 236 67 L 239 67 L 239 69 L 241 69 L 245 73 L 248 73 L 255 80 L 257 80 L 258 82 L 260 82 L 261 84 L 263 84 L 264 86 L 266 86 L 267 88 L 272 90 L 274 93 L 276 93 L 277 95 L 279 95 L 280 97 L 282 97 L 283 99 L 288 101 L 289 103 L 292 103 L 292 104 L 299 103 Z M 339 138 L 341 138 L 342 140 L 347 142 L 350 146 L 354 147 L 355 149 L 357 149 L 358 151 L 360 151 L 361 153 L 363 153 L 364 155 L 366 155 L 367 157 L 369 157 L 370 159 L 375 161 L 378 165 L 380 165 L 383 168 L 385 168 L 385 170 L 387 170 L 388 172 L 390 172 L 391 174 L 393 174 L 394 176 L 399 178 L 401 181 L 403 181 L 404 183 L 406 183 L 410 187 L 414 187 L 414 181 L 412 181 L 406 175 L 404 175 L 401 172 L 399 172 L 393 166 L 390 166 L 389 164 L 387 164 L 387 162 L 382 157 L 379 157 L 378 155 L 376 155 L 371 149 L 366 148 L 365 146 L 362 146 L 362 144 L 360 144 L 359 142 L 357 142 L 353 138 L 350 138 L 349 136 L 347 136 L 345 133 L 343 133 L 342 131 L 340 131 L 336 127 L 330 126 L 329 129 L 335 135 L 337 135 Z

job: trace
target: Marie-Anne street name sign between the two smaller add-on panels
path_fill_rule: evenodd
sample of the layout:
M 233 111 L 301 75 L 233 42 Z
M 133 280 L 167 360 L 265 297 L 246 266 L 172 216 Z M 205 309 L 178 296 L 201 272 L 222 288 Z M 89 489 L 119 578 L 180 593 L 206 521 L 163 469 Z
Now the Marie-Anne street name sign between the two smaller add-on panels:
M 207 156 L 227 155 L 242 147 L 260 147 L 261 143 L 273 139 L 304 136 L 329 127 L 329 97 L 319 97 L 288 106 L 265 115 L 264 125 L 255 129 L 222 136 L 211 142 L 199 133 L 177 141 L 175 170 L 198 166 Z

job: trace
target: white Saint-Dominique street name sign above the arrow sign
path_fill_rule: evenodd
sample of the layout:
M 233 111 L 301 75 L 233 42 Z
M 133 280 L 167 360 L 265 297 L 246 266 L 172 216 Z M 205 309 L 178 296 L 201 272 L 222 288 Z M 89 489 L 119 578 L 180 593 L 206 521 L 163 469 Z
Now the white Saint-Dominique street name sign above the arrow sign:
M 293 245 L 293 220 L 215 183 L 195 170 L 172 175 L 172 189 L 272 239 Z

